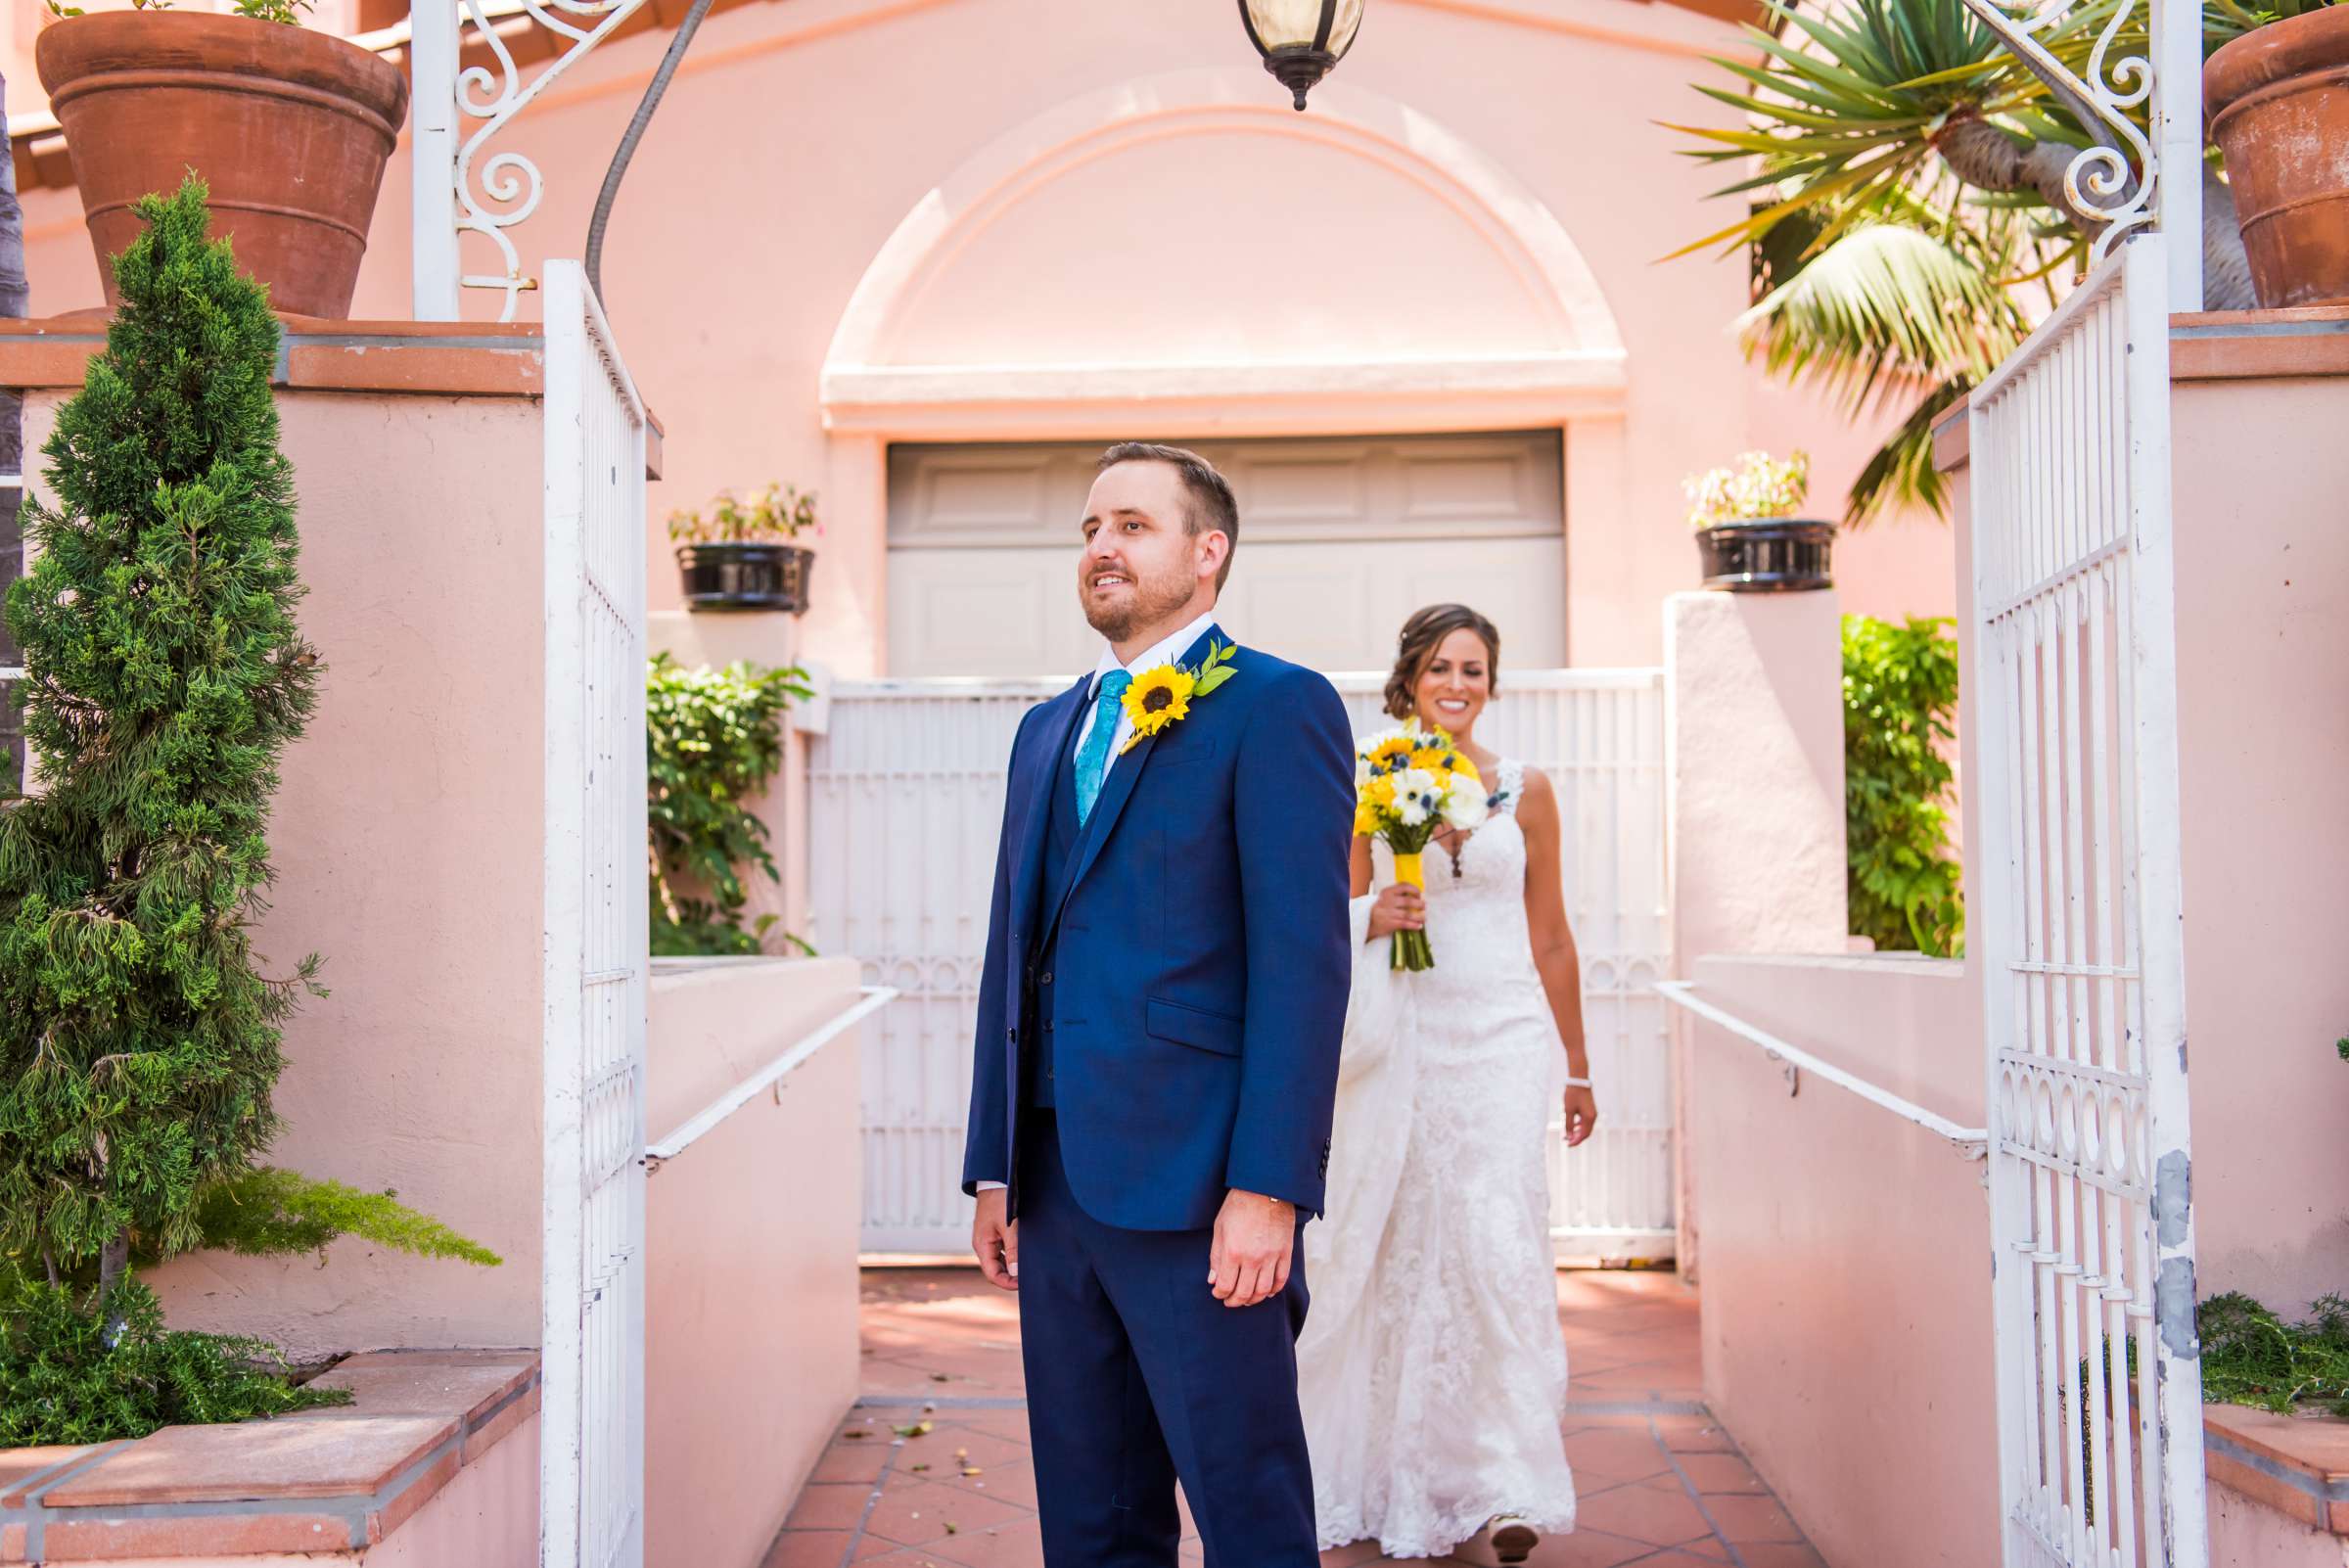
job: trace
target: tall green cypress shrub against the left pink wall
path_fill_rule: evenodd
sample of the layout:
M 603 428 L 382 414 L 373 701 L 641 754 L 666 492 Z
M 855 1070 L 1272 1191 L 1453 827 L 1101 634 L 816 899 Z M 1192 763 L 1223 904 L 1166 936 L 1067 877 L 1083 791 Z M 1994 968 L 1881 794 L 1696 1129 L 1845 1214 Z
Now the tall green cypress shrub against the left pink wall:
M 35 777 L 0 812 L 0 1251 L 52 1282 L 96 1261 L 101 1300 L 134 1242 L 193 1246 L 207 1190 L 268 1148 L 280 1023 L 317 969 L 251 946 L 317 657 L 277 319 L 204 195 L 139 204 L 7 594 Z

